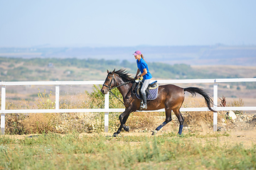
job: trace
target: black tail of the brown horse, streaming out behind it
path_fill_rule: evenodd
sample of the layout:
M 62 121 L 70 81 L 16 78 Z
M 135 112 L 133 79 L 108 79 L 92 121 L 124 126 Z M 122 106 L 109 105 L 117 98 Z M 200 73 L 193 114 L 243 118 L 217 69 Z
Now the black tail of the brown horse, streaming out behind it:
M 196 96 L 197 94 L 201 94 L 203 96 L 203 98 L 205 98 L 206 100 L 206 105 L 207 107 L 210 109 L 210 111 L 216 112 L 214 111 L 212 108 L 210 108 L 210 104 L 213 104 L 213 100 L 210 98 L 210 96 L 206 93 L 206 91 L 203 91 L 202 89 L 199 89 L 197 87 L 188 87 L 185 88 L 184 91 L 188 91 L 189 93 L 191 93 L 193 96 Z

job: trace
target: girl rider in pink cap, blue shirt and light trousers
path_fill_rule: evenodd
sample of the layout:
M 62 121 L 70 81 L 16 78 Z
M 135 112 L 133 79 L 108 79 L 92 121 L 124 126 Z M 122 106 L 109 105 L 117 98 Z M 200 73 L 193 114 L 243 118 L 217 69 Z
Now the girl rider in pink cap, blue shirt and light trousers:
M 141 89 L 142 101 L 143 101 L 141 109 L 146 109 L 147 108 L 147 106 L 146 106 L 146 88 L 149 86 L 149 81 L 152 78 L 152 76 L 149 72 L 149 67 L 146 64 L 146 61 L 144 60 L 142 52 L 136 51 L 136 52 L 134 52 L 133 55 L 134 55 L 135 59 L 137 60 L 137 67 L 138 67 L 137 74 L 135 77 L 137 79 L 139 79 L 139 77 L 143 77 L 143 79 L 144 79 L 144 83 L 143 83 L 142 89 Z M 139 72 L 141 72 L 142 74 L 139 74 Z

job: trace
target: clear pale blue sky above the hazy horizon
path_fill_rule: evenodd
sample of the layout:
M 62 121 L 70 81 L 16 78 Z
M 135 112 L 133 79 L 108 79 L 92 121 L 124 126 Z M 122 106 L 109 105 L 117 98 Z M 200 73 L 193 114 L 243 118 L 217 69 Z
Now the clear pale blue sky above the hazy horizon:
M 256 1 L 0 0 L 0 47 L 256 45 Z

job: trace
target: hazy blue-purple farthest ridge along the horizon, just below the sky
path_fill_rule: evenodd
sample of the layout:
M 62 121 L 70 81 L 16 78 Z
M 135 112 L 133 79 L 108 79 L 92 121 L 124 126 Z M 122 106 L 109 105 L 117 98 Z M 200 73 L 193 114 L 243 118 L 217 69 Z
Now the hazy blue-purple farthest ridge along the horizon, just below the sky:
M 127 60 L 141 50 L 146 62 L 188 65 L 256 66 L 256 46 L 138 46 L 138 47 L 29 47 L 0 48 L 0 57 Z

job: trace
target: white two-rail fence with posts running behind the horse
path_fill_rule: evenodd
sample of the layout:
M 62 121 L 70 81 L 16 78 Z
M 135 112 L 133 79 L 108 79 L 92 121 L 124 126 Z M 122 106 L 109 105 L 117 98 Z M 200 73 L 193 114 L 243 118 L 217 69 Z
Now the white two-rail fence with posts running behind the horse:
M 159 84 L 213 84 L 213 109 L 215 111 L 256 111 L 252 107 L 218 107 L 218 83 L 230 82 L 255 82 L 256 78 L 248 79 L 174 79 L 158 80 Z M 4 135 L 5 114 L 6 113 L 86 113 L 86 112 L 104 112 L 105 113 L 105 132 L 108 131 L 109 113 L 123 112 L 124 108 L 109 108 L 109 94 L 105 95 L 105 108 L 83 108 L 83 109 L 60 109 L 60 86 L 61 85 L 90 85 L 103 84 L 104 81 L 8 81 L 0 82 L 1 84 L 1 134 Z M 26 85 L 55 85 L 55 109 L 22 109 L 6 110 L 6 86 L 26 86 Z M 154 111 L 161 112 L 164 109 Z M 181 108 L 181 111 L 209 111 L 207 107 L 203 108 Z M 152 112 L 152 111 L 151 111 Z M 217 130 L 217 113 L 213 113 L 213 131 Z

